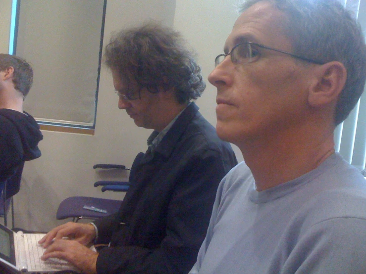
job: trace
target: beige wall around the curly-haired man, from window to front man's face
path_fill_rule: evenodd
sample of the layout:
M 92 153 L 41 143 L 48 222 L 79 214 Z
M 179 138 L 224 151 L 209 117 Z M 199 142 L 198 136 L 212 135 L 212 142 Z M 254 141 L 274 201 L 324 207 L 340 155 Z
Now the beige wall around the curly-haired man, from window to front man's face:
M 233 12 L 234 1 L 107 0 L 104 42 L 109 40 L 112 31 L 153 18 L 184 34 L 197 50 L 207 78 L 237 17 Z M 215 89 L 209 83 L 197 104 L 203 115 L 215 125 Z M 150 133 L 150 130 L 136 127 L 125 111 L 117 108 L 110 73 L 102 67 L 95 135 L 43 131 L 42 156 L 25 164 L 21 190 L 14 197 L 15 226 L 48 230 L 64 223 L 56 221 L 55 214 L 58 204 L 69 196 L 123 198 L 123 194 L 117 192 L 102 193 L 93 187 L 93 183 L 109 177 L 127 179 L 127 174 L 109 176 L 97 173 L 92 167 L 96 163 L 131 166 L 136 154 L 146 150 Z M 240 158 L 240 153 L 237 154 Z

